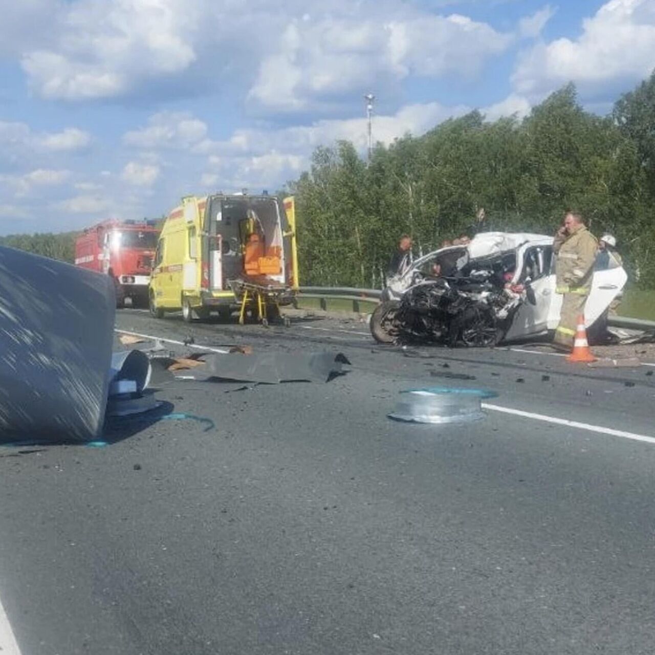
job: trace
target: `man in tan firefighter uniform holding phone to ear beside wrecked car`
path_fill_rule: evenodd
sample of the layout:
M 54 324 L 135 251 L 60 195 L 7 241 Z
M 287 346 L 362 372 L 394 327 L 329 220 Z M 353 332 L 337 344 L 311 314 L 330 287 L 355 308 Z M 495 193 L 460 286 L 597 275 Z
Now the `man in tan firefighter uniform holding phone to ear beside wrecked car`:
M 584 306 L 591 291 L 598 242 L 582 223 L 582 217 L 569 212 L 564 225 L 555 234 L 553 250 L 556 255 L 555 291 L 564 295 L 553 344 L 571 348 L 578 316 L 584 314 Z

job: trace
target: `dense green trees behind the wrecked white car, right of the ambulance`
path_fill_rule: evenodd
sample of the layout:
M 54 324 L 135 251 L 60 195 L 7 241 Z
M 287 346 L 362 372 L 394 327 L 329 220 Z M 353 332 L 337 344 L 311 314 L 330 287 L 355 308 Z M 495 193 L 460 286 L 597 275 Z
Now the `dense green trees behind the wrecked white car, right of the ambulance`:
M 318 147 L 296 196 L 302 284 L 381 286 L 402 234 L 419 253 L 474 231 L 552 234 L 567 209 L 618 240 L 632 280 L 655 288 L 655 73 L 607 117 L 573 84 L 522 120 L 479 111 L 416 138 L 378 144 L 370 162 L 349 141 Z

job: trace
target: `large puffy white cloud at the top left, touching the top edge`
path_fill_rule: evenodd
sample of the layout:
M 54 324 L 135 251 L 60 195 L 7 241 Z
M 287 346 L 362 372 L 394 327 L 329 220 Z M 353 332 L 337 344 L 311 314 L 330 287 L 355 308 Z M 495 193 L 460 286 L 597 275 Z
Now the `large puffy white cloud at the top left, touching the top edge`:
M 200 2 L 79 0 L 61 3 L 55 43 L 22 58 L 44 98 L 85 100 L 126 94 L 151 75 L 181 73 L 195 60 L 188 33 Z

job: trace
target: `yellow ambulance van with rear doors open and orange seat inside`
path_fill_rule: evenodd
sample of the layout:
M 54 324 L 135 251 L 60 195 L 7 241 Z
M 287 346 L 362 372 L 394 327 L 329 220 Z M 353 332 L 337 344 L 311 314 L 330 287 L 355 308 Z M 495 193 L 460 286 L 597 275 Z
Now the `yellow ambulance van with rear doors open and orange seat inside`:
M 185 321 L 237 309 L 239 289 L 278 290 L 290 303 L 298 287 L 293 197 L 187 196 L 159 235 L 149 284 L 150 312 L 182 310 Z

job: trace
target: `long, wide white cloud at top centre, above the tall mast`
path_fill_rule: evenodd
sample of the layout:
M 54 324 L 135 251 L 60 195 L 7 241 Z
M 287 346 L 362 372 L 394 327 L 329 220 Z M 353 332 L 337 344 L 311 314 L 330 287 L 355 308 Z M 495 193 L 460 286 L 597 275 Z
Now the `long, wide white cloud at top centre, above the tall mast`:
M 295 111 L 409 75 L 475 75 L 513 40 L 459 14 L 403 13 L 292 20 L 276 50 L 261 61 L 249 97 L 270 109 Z

